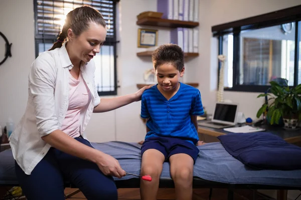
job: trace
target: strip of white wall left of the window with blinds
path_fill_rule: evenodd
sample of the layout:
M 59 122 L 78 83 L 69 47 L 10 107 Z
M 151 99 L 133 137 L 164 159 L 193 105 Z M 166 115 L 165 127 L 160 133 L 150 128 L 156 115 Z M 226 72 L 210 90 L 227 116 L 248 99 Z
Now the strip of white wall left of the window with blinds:
M 28 72 L 35 59 L 33 0 L 1 0 L 0 31 L 12 45 L 12 57 L 0 65 L 0 125 L 19 121 L 27 103 Z M 0 48 L 4 48 L 1 45 Z M 3 54 L 1 54 L 2 58 Z

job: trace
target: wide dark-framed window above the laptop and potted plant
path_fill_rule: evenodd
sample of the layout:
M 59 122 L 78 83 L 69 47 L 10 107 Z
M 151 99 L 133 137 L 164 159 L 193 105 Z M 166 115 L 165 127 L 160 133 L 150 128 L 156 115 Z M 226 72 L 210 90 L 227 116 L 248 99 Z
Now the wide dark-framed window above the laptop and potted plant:
M 227 57 L 225 90 L 264 92 L 270 81 L 301 83 L 301 6 L 212 27 Z

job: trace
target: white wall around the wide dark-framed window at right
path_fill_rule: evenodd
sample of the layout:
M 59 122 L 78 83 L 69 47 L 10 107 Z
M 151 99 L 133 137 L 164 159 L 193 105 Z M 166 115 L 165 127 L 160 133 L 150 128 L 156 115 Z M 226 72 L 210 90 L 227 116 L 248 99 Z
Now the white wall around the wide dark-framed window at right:
M 200 0 L 200 56 L 190 64 L 190 81 L 199 81 L 202 100 L 212 113 L 217 89 L 218 43 L 212 38 L 211 27 L 238 19 L 255 16 L 301 4 L 300 0 Z M 224 98 L 240 103 L 246 117 L 256 119 L 256 112 L 263 99 L 255 92 L 225 91 Z

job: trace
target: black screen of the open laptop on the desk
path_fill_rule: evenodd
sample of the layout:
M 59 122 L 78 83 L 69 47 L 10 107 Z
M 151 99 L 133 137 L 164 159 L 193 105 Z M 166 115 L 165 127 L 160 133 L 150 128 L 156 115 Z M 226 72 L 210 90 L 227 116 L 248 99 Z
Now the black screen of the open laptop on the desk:
M 235 121 L 237 105 L 216 103 L 214 118 L 221 121 Z

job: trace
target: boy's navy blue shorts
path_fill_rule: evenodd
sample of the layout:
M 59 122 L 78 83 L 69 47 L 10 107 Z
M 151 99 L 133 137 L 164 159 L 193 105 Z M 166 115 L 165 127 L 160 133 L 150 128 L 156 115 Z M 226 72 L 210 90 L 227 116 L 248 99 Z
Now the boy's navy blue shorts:
M 168 161 L 169 157 L 173 154 L 188 154 L 193 158 L 194 164 L 200 151 L 196 145 L 184 139 L 175 137 L 148 137 L 141 146 L 141 157 L 143 152 L 150 148 L 162 152 L 165 156 L 165 161 Z

